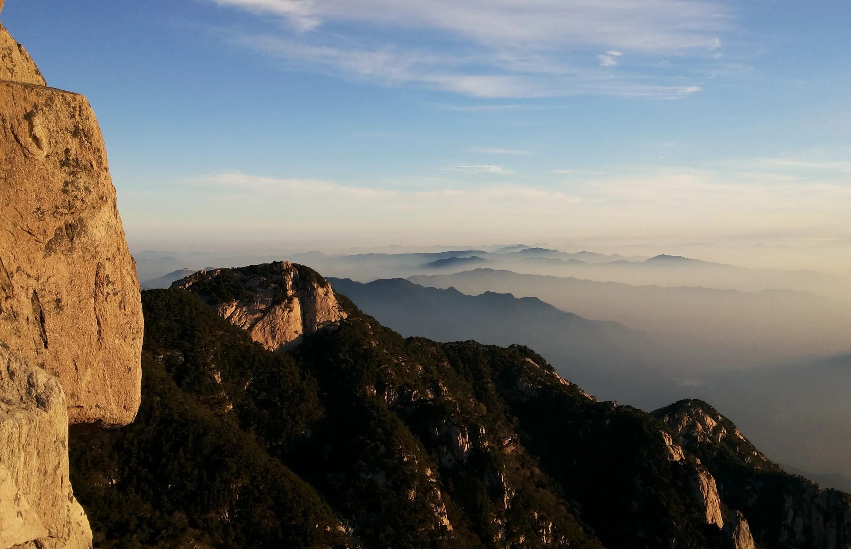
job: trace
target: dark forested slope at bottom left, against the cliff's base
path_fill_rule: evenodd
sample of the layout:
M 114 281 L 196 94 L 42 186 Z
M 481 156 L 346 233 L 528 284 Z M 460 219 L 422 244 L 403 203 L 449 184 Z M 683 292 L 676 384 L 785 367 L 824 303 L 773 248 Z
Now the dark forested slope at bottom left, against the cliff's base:
M 345 543 L 316 491 L 144 354 L 136 421 L 71 434 L 71 483 L 99 547 Z M 317 526 L 318 525 L 318 526 Z M 283 545 L 282 545 L 283 544 Z

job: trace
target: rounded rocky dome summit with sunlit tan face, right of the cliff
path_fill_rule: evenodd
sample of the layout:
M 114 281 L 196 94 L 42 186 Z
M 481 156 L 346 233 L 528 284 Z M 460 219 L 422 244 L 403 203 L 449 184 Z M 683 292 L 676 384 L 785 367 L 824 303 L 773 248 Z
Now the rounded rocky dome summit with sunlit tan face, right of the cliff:
M 334 290 L 316 271 L 288 261 L 199 271 L 173 288 L 195 291 L 271 351 L 346 318 Z

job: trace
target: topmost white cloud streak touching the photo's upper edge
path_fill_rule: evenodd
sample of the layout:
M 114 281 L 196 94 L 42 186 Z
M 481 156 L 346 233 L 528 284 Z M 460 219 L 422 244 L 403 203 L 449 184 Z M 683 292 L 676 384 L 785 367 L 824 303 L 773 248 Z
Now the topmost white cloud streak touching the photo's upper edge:
M 214 0 L 278 14 L 300 28 L 334 22 L 443 31 L 504 47 L 604 44 L 651 52 L 717 48 L 733 12 L 710 0 Z M 613 49 L 614 49 L 613 48 Z

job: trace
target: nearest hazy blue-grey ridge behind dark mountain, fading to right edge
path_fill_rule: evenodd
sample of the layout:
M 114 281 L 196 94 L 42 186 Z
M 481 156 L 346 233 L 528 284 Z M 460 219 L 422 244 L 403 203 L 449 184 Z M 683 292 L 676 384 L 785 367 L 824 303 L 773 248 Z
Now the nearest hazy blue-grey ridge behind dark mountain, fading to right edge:
M 814 473 L 825 487 L 844 488 L 851 475 L 851 355 L 791 364 L 694 369 L 674 349 L 616 322 L 585 320 L 536 297 L 454 288 L 408 280 L 368 284 L 329 279 L 336 291 L 404 336 L 535 348 L 556 371 L 589 393 L 653 408 L 684 394 L 721 406 L 760 446 L 783 463 Z M 797 436 L 790 439 L 788 433 Z

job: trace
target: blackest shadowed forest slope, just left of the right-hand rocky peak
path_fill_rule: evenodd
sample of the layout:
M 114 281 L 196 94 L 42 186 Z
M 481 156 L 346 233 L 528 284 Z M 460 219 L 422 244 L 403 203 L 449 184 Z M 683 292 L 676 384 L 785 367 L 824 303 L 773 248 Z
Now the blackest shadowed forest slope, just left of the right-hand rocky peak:
M 551 366 L 528 348 L 512 346 L 500 356 L 464 342 L 445 350 L 465 376 L 493 381 L 482 387 L 494 394 L 481 398 L 508 406 L 523 445 L 563 494 L 580 502 L 583 520 L 603 544 L 650 549 L 676 539 L 679 547 L 725 546 L 718 529 L 703 524 L 690 495 L 693 469 L 669 461 L 665 427 L 652 416 L 552 382 Z

